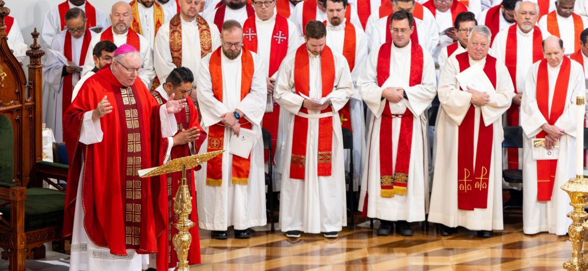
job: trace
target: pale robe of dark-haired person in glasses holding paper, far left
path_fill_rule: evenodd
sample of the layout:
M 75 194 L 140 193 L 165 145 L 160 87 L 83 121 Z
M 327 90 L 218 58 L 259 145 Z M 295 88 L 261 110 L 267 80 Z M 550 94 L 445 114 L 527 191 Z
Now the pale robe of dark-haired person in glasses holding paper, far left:
M 53 43 L 51 44 L 51 50 L 64 55 L 64 45 L 65 45 L 65 34 L 67 33 L 66 30 L 59 32 L 53 39 Z M 84 34 L 85 35 L 85 34 Z M 90 31 L 90 35 L 94 36 L 96 33 Z M 82 52 L 82 45 L 83 45 L 83 38 L 74 38 L 72 36 L 72 62 L 75 65 L 79 66 L 80 58 L 85 56 L 80 56 Z M 89 49 L 88 49 L 89 50 Z M 65 58 L 65 56 L 63 56 Z M 64 134 L 63 134 L 63 118 L 62 118 L 62 97 L 63 97 L 63 84 L 64 84 L 64 77 L 62 77 L 61 73 L 65 65 L 60 62 L 56 62 L 55 60 L 50 60 L 52 57 L 47 58 L 48 61 L 52 61 L 52 63 L 45 63 L 45 67 L 43 67 L 43 73 L 47 76 L 44 76 L 44 91 L 43 91 L 43 107 L 44 107 L 44 122 L 47 124 L 47 127 L 53 129 L 55 133 L 55 140 L 57 142 L 64 141 Z M 92 63 L 94 63 L 92 61 Z M 80 73 L 73 73 L 72 74 L 72 87 L 78 83 L 80 78 Z

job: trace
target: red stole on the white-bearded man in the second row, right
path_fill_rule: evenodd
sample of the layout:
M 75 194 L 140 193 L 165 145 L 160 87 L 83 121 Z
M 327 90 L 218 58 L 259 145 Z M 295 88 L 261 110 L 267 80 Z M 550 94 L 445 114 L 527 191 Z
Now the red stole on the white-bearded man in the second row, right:
M 517 63 L 517 28 L 518 26 L 512 25 L 509 28 L 508 36 L 506 38 L 506 53 L 505 53 L 505 65 L 509 70 L 510 78 L 513 80 L 513 85 L 516 89 L 516 63 Z M 541 45 L 543 38 L 541 36 L 541 30 L 539 27 L 534 26 L 533 28 L 533 63 L 543 59 L 543 46 Z M 506 123 L 508 126 L 519 126 L 519 109 L 520 106 L 512 104 L 509 110 L 506 111 Z M 508 168 L 509 170 L 517 170 L 519 168 L 519 150 L 516 148 L 508 148 Z

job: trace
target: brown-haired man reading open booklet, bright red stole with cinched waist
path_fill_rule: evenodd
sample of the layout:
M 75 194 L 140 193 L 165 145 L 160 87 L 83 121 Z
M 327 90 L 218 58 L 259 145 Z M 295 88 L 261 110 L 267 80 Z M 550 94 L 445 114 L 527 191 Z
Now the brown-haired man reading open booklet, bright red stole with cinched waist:
M 345 57 L 325 45 L 323 22 L 310 21 L 306 44 L 286 56 L 276 80 L 275 100 L 284 110 L 279 137 L 282 172 L 280 227 L 289 238 L 300 232 L 336 238 L 347 225 L 343 135 L 338 111 L 353 94 Z M 315 103 L 312 99 L 328 99 Z

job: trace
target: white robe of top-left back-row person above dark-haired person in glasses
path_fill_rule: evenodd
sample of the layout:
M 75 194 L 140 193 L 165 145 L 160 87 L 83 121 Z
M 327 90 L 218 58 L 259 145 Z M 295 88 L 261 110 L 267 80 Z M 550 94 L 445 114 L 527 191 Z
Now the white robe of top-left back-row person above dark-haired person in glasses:
M 98 1 L 96 1 L 96 2 L 98 2 Z M 59 2 L 59 4 L 61 4 L 61 3 L 62 2 Z M 69 4 L 69 8 L 79 8 L 79 9 L 82 9 L 82 11 L 86 12 L 86 3 L 85 2 L 81 6 L 76 6 L 69 1 L 68 1 L 68 4 Z M 106 16 L 106 14 L 104 12 L 102 12 L 101 9 L 99 9 L 95 5 L 93 5 L 93 6 L 96 9 L 96 26 L 94 26 L 94 27 L 102 28 L 102 31 L 103 31 L 104 29 L 108 28 L 108 26 L 111 26 L 111 21 L 108 18 L 108 16 Z M 52 8 L 45 15 L 45 20 L 43 21 L 43 30 L 41 31 L 41 38 L 44 40 L 44 42 L 47 45 L 51 45 L 51 41 L 53 40 L 53 37 L 55 35 L 57 35 L 59 32 L 61 32 L 62 30 L 64 30 L 64 29 L 61 28 L 61 16 L 59 15 L 59 6 L 55 6 L 55 8 Z

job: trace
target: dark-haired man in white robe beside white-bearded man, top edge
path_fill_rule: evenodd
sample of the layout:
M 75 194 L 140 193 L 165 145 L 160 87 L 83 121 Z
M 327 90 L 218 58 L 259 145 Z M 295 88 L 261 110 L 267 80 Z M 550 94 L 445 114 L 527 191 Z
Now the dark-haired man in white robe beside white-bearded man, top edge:
M 492 42 L 498 32 L 516 23 L 515 4 L 522 0 L 502 0 L 499 4 L 486 9 L 477 16 L 480 25 L 485 25 L 492 31 Z

